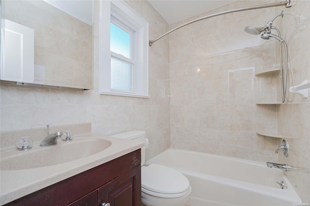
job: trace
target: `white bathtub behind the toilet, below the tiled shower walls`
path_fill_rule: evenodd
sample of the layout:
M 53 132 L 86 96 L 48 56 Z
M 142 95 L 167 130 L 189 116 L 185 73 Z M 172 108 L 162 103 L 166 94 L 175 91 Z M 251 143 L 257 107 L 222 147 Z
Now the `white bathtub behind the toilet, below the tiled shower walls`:
M 302 203 L 293 186 L 276 168 L 201 152 L 168 149 L 145 165 L 163 164 L 183 173 L 192 187 L 191 206 L 292 206 Z M 277 183 L 283 180 L 287 189 Z

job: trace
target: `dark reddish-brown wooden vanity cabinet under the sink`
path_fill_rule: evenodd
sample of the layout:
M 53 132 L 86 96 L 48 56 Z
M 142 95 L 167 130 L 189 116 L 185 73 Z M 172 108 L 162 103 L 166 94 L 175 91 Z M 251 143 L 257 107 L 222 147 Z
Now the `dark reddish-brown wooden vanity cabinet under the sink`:
M 141 206 L 140 149 L 5 206 Z

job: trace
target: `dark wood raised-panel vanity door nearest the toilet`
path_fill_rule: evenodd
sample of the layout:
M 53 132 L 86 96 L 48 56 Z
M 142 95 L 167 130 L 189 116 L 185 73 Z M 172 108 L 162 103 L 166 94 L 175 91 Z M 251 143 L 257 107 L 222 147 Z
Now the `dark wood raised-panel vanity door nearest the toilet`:
M 137 166 L 98 189 L 98 205 L 141 206 L 141 166 Z

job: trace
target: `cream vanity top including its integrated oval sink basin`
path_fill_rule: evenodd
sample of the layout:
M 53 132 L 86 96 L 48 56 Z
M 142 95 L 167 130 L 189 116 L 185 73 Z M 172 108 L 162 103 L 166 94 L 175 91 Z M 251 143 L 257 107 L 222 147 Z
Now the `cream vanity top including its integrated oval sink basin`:
M 0 149 L 0 205 L 41 190 L 66 178 L 114 160 L 143 147 L 140 141 L 85 133 L 70 142 L 58 140 L 48 147 Z

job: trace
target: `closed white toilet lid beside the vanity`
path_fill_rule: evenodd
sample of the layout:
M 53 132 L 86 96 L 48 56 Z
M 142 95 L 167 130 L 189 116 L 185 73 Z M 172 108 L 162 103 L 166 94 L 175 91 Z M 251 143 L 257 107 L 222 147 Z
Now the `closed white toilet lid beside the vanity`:
M 189 190 L 188 179 L 183 174 L 160 164 L 141 167 L 141 186 L 142 191 L 146 193 L 149 193 L 147 191 L 163 194 L 181 193 L 181 196 Z

